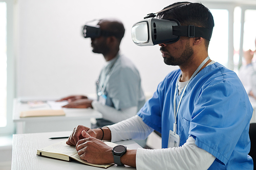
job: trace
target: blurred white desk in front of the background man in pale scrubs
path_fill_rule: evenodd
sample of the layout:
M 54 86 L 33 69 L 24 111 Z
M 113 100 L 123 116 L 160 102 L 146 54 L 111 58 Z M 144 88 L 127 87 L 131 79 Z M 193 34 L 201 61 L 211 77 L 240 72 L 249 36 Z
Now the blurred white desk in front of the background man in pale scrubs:
M 27 103 L 14 99 L 13 122 L 16 123 L 17 134 L 70 131 L 77 125 L 91 127 L 91 118 L 102 118 L 102 114 L 94 109 L 72 108 L 63 109 L 65 116 L 19 117 L 20 111 L 26 110 L 31 110 Z

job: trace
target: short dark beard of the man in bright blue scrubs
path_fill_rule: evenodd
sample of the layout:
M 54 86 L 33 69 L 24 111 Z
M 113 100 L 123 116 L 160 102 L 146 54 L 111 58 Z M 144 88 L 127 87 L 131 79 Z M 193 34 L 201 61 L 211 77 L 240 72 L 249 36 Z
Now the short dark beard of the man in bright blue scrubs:
M 169 52 L 164 47 L 160 47 L 160 51 L 168 54 L 168 57 L 163 58 L 164 63 L 167 65 L 181 65 L 194 54 L 193 48 L 189 46 L 189 42 L 186 43 L 185 51 L 181 54 L 179 58 L 175 58 L 172 55 L 170 55 Z

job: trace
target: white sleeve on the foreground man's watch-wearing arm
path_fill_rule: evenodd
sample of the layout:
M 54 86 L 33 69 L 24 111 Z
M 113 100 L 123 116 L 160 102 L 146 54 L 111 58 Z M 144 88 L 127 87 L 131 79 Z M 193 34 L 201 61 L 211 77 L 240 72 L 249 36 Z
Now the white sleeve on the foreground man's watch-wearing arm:
M 208 169 L 215 157 L 197 147 L 189 137 L 182 147 L 159 150 L 138 149 L 137 169 Z

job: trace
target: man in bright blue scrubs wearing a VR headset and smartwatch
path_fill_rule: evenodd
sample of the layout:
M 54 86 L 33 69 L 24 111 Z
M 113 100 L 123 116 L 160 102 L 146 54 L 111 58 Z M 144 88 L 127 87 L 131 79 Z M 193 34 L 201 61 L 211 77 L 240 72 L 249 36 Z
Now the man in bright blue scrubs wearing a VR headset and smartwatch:
M 159 44 L 164 62 L 180 69 L 166 76 L 136 116 L 103 127 L 103 132 L 78 126 L 67 144 L 76 145 L 81 159 L 98 164 L 253 169 L 248 156 L 253 109 L 237 75 L 208 57 L 214 27 L 210 11 L 199 3 L 180 2 L 164 8 L 158 18 L 137 22 L 133 40 L 139 45 Z M 166 25 L 171 25 L 168 39 L 158 34 L 168 32 Z M 146 36 L 138 34 L 141 30 L 147 31 Z M 162 134 L 163 149 L 129 150 L 120 145 L 116 150 L 99 140 L 143 139 L 153 130 Z

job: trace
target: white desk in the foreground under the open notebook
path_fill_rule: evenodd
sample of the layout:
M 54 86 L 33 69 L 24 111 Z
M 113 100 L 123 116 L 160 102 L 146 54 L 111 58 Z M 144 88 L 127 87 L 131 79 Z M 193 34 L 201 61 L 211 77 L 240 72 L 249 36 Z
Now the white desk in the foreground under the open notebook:
M 49 137 L 69 136 L 71 131 L 66 132 L 47 132 L 47 133 L 31 133 L 31 134 L 16 134 L 13 135 L 12 144 L 12 170 L 26 169 L 87 169 L 87 170 L 101 170 L 103 168 L 84 165 L 72 160 L 71 162 L 61 161 L 56 159 L 45 158 L 36 155 L 38 149 L 47 147 L 48 145 L 63 141 L 65 139 L 49 139 Z M 129 149 L 141 148 L 139 144 L 132 140 L 116 142 L 124 144 Z M 113 165 L 111 169 L 135 169 L 130 166 Z

